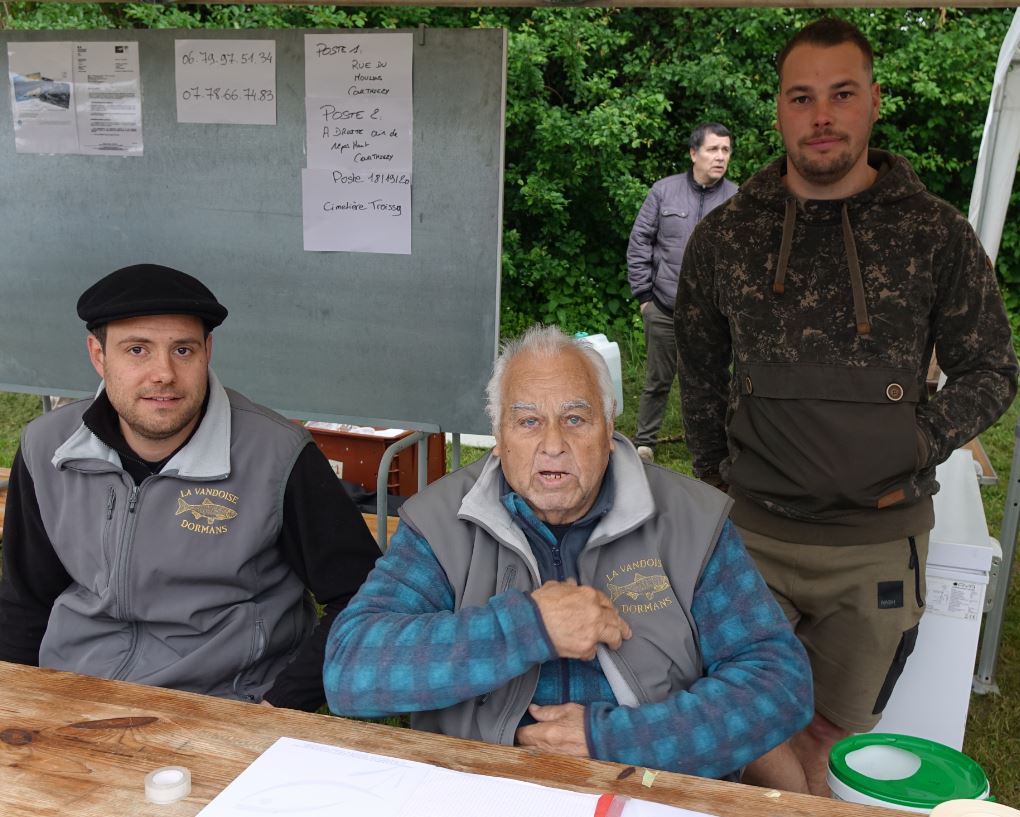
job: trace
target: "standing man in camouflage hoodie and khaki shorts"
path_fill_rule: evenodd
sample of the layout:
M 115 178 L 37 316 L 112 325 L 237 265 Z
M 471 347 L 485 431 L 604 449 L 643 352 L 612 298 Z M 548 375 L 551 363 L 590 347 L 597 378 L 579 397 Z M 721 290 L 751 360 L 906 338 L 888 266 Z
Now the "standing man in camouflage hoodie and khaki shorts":
M 1010 405 L 1017 363 L 966 219 L 868 148 L 864 36 L 819 20 L 776 66 L 786 155 L 696 229 L 674 326 L 695 471 L 728 488 L 814 674 L 814 719 L 746 779 L 824 795 L 828 750 L 878 722 L 913 650 L 935 465 Z

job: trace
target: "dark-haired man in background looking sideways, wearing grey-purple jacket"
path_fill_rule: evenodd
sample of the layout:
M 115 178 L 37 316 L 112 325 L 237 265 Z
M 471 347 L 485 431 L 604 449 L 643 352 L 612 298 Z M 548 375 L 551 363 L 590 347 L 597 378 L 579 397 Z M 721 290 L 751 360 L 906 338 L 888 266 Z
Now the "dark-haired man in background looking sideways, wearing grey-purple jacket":
M 725 178 L 733 140 L 718 122 L 691 134 L 691 169 L 652 186 L 630 231 L 627 277 L 641 305 L 647 368 L 638 406 L 634 444 L 642 459 L 655 458 L 655 446 L 676 378 L 673 306 L 683 251 L 695 225 L 736 193 Z

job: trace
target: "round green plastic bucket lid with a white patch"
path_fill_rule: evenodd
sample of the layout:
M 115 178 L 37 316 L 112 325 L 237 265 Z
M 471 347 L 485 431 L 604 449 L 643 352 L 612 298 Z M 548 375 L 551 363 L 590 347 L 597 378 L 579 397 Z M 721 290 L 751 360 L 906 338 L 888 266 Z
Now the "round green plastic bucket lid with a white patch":
M 988 795 L 988 778 L 974 760 L 948 746 L 906 734 L 847 737 L 832 747 L 829 771 L 862 795 L 915 809 Z

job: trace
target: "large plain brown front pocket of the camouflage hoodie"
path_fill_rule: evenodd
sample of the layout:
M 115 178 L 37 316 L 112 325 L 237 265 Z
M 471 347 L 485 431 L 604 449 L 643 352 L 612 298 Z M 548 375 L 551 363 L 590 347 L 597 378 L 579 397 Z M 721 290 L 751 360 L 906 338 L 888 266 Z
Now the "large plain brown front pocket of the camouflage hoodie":
M 740 399 L 723 476 L 741 493 L 801 519 L 918 498 L 913 373 L 753 364 L 735 376 Z

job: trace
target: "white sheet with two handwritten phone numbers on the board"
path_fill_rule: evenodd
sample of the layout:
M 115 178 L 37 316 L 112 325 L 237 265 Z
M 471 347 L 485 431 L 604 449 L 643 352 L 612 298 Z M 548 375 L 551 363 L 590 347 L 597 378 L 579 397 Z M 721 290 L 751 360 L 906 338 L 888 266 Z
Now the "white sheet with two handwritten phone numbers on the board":
M 178 122 L 276 123 L 275 40 L 177 40 Z

